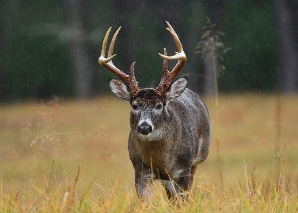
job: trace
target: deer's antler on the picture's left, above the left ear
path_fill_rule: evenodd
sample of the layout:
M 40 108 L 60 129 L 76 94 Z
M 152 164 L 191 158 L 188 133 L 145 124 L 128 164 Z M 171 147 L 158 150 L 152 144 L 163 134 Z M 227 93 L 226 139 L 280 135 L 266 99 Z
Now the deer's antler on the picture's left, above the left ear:
M 111 31 L 111 27 L 108 29 L 103 42 L 102 42 L 102 48 L 101 48 L 101 54 L 100 57 L 98 59 L 98 62 L 105 67 L 106 69 L 110 70 L 112 73 L 114 73 L 115 75 L 117 75 L 119 78 L 121 78 L 129 87 L 132 95 L 134 96 L 135 94 L 137 94 L 140 89 L 138 87 L 138 83 L 136 81 L 135 78 L 135 63 L 133 62 L 130 68 L 130 72 L 129 75 L 125 74 L 124 72 L 122 72 L 121 70 L 119 70 L 112 62 L 112 59 L 117 55 L 114 54 L 113 55 L 113 49 L 114 49 L 114 44 L 116 41 L 116 37 L 119 33 L 121 27 L 118 28 L 118 30 L 115 32 L 110 47 L 109 47 L 109 51 L 108 51 L 108 57 L 105 58 L 105 51 L 106 51 L 106 47 L 107 47 L 107 41 L 108 41 L 108 37 L 110 35 L 110 31 Z

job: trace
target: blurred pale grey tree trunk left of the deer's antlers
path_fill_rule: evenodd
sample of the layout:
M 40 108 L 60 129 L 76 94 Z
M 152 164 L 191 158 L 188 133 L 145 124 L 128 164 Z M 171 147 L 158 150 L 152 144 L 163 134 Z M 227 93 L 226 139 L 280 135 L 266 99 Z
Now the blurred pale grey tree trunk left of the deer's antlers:
M 75 72 L 76 94 L 80 98 L 92 95 L 93 70 L 89 61 L 86 21 L 88 16 L 85 0 L 66 0 L 66 18 L 70 29 L 70 53 Z

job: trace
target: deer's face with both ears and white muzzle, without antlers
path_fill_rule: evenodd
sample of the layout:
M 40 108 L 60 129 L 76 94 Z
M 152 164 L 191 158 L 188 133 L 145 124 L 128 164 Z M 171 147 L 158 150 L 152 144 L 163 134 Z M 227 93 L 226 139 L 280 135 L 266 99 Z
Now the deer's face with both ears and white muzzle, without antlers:
M 140 140 L 160 140 L 162 138 L 163 117 L 168 103 L 178 98 L 186 87 L 186 79 L 172 83 L 167 92 L 160 96 L 153 88 L 141 89 L 132 96 L 128 87 L 119 80 L 111 80 L 112 92 L 131 104 L 130 126 Z

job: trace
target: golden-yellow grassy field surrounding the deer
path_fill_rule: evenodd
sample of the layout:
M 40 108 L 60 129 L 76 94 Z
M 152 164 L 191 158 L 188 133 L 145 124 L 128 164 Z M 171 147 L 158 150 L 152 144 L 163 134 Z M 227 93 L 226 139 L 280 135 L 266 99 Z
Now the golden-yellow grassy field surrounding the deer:
M 204 99 L 213 135 L 188 199 L 137 199 L 130 106 L 114 97 L 0 106 L 0 212 L 298 212 L 298 97 Z M 280 117 L 280 119 L 279 119 Z

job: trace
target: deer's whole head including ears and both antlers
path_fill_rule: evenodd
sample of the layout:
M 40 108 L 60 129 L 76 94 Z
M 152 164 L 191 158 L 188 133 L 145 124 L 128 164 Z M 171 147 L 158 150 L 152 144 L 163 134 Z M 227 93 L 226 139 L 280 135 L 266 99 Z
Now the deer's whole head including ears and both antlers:
M 115 32 L 109 47 L 108 56 L 105 58 L 107 40 L 111 31 L 111 28 L 109 28 L 103 40 L 101 55 L 98 59 L 102 66 L 122 79 L 122 81 L 111 79 L 109 80 L 109 85 L 117 97 L 131 104 L 131 130 L 135 131 L 141 140 L 158 140 L 162 137 L 160 128 L 162 128 L 162 119 L 167 113 L 168 103 L 183 93 L 187 83 L 185 78 L 173 81 L 185 64 L 186 55 L 174 29 L 168 22 L 166 23 L 168 25 L 166 29 L 173 36 L 178 52 L 174 56 L 167 56 L 164 48 L 164 54 L 159 53 L 164 59 L 163 74 L 156 88 L 140 89 L 138 87 L 134 75 L 135 62 L 131 65 L 129 75 L 114 66 L 112 59 L 116 54 L 113 55 L 113 48 L 121 27 Z M 167 60 L 178 60 L 172 71 L 168 71 Z

